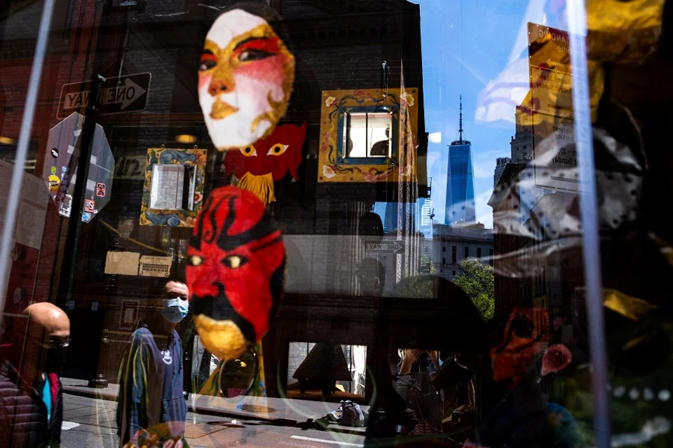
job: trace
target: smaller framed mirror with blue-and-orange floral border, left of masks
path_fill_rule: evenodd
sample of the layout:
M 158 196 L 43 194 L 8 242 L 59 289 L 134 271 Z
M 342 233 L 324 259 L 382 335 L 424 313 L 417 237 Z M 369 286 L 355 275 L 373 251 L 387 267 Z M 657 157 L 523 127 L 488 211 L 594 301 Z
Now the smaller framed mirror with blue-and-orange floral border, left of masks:
M 203 205 L 205 149 L 148 148 L 140 225 L 193 227 Z

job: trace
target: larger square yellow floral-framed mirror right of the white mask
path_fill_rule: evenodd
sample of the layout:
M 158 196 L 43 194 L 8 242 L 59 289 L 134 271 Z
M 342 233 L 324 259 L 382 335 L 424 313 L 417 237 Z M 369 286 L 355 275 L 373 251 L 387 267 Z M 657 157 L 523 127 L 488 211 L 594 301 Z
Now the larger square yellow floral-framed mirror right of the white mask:
M 318 182 L 412 181 L 418 89 L 325 90 Z

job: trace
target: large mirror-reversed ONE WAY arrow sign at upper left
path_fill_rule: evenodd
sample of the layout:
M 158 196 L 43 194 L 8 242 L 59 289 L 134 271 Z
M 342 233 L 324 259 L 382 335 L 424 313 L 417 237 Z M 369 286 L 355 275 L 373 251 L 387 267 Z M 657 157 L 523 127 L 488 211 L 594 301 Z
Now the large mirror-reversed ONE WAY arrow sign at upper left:
M 100 92 L 99 113 L 125 113 L 142 111 L 147 106 L 151 73 L 107 78 Z M 65 84 L 61 88 L 58 103 L 58 118 L 66 118 L 73 112 L 83 113 L 89 104 L 90 81 Z

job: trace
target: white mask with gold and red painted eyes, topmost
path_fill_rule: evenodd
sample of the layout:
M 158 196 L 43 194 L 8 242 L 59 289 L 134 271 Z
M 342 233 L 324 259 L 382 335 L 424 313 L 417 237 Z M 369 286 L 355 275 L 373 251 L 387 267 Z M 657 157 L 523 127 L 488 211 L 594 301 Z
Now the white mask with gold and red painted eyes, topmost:
M 240 9 L 224 13 L 205 36 L 198 100 L 219 151 L 268 137 L 285 114 L 294 56 L 270 25 Z

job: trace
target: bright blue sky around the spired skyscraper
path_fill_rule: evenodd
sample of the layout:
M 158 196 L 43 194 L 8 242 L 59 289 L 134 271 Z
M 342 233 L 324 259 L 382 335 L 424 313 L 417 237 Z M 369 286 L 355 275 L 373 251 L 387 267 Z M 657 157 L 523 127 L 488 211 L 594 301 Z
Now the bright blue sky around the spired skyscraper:
M 532 4 L 535 2 L 536 4 Z M 512 62 L 522 62 L 515 80 L 527 81 L 527 20 L 541 22 L 545 0 L 412 0 L 421 6 L 423 87 L 426 132 L 441 132 L 441 143 L 428 146 L 428 176 L 433 178 L 435 220 L 444 222 L 448 148 L 458 138 L 458 99 L 463 95 L 463 130 L 472 142 L 477 221 L 492 227 L 487 201 L 493 188 L 496 158 L 510 155 L 515 133 L 514 106 L 503 120 L 475 120 L 489 82 L 497 83 Z M 525 18 L 525 20 L 524 20 Z M 552 25 L 552 24 L 550 24 Z M 523 30 L 522 30 L 523 31 Z M 514 50 L 512 50 L 514 48 Z M 514 64 L 516 65 L 516 64 Z M 507 78 L 507 80 L 512 79 Z M 492 86 L 492 84 L 491 84 Z M 510 113 L 511 111 L 511 113 Z M 492 116 L 491 116 L 492 118 Z

